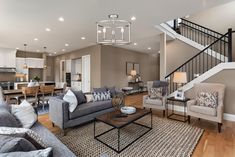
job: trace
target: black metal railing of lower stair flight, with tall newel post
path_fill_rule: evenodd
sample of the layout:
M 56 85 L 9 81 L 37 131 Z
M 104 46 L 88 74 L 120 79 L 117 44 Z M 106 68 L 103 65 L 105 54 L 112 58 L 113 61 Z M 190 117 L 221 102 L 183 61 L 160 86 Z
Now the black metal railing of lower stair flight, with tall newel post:
M 228 45 L 224 46 L 225 43 Z M 214 51 L 215 47 L 219 53 Z M 186 72 L 187 80 L 190 82 L 216 65 L 230 61 L 232 61 L 232 29 L 213 39 L 206 48 L 165 77 L 169 83 L 168 94 L 177 90 L 177 85 L 173 82 L 175 72 Z

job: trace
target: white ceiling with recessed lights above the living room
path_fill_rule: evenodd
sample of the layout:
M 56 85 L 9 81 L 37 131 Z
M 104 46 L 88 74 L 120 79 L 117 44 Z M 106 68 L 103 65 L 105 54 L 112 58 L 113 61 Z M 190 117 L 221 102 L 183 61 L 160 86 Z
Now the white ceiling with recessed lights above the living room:
M 96 44 L 96 21 L 117 13 L 119 19 L 132 16 L 133 44 L 123 46 L 140 52 L 159 50 L 159 31 L 154 27 L 162 22 L 196 13 L 232 0 L 0 0 L 0 47 L 58 54 Z M 64 17 L 64 22 L 58 18 Z M 45 29 L 50 28 L 50 32 Z M 81 40 L 81 37 L 86 40 Z M 38 38 L 38 41 L 34 41 Z M 65 43 L 69 46 L 65 47 Z M 151 50 L 147 48 L 151 47 Z

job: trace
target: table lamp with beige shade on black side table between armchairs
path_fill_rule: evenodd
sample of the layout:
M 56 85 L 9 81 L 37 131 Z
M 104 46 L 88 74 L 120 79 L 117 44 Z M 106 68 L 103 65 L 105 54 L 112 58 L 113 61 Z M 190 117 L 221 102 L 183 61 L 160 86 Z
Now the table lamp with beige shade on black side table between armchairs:
M 184 100 L 184 91 L 179 89 L 182 84 L 187 83 L 187 73 L 186 72 L 175 72 L 173 77 L 173 82 L 177 84 L 178 90 L 175 93 L 175 99 Z

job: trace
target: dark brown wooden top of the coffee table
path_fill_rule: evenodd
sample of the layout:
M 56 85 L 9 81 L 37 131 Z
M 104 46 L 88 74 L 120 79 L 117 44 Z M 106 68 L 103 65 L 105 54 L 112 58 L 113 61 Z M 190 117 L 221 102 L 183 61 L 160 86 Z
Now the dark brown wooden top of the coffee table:
M 130 114 L 127 117 L 117 117 L 117 115 L 120 113 L 121 112 L 119 110 L 105 113 L 101 116 L 96 117 L 96 120 L 101 121 L 103 123 L 106 123 L 108 125 L 111 125 L 115 128 L 121 128 L 123 126 L 126 126 L 126 125 L 144 117 L 147 114 L 150 114 L 151 111 L 136 108 L 136 112 L 134 114 Z

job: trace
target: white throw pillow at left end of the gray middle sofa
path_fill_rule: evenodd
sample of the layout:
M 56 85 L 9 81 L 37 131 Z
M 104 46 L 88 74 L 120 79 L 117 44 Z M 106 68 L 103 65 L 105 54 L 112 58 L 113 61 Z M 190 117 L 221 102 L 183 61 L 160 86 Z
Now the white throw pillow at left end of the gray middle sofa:
M 63 100 L 69 103 L 70 112 L 73 112 L 76 109 L 78 105 L 77 97 L 71 90 L 68 90 L 68 92 L 64 95 Z

